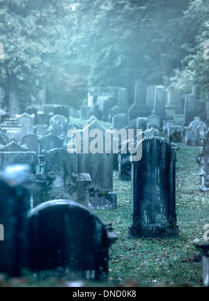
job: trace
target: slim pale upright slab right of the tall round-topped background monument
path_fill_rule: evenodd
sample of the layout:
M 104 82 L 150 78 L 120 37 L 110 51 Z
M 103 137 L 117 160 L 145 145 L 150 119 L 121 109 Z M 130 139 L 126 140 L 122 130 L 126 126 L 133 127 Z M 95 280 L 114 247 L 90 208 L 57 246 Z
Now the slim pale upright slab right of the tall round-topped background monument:
M 154 114 L 160 116 L 162 120 L 166 118 L 165 106 L 167 104 L 166 89 L 164 86 L 155 87 Z

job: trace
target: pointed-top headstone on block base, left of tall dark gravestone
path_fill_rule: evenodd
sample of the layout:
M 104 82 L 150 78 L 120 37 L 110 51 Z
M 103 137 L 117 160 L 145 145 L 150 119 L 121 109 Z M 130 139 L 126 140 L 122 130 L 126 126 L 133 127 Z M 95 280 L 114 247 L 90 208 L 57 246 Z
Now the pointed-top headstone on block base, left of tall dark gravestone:
M 87 137 L 86 132 L 100 130 L 102 133 L 102 152 L 97 153 L 83 152 L 78 156 L 78 171 L 80 173 L 89 173 L 92 183 L 90 184 L 90 208 L 94 209 L 115 209 L 116 192 L 113 191 L 113 154 L 105 153 L 105 129 L 99 121 L 92 116 L 87 123 L 88 126 L 82 130 L 82 145 L 94 144 L 95 137 Z M 102 171 L 102 172 L 101 172 Z

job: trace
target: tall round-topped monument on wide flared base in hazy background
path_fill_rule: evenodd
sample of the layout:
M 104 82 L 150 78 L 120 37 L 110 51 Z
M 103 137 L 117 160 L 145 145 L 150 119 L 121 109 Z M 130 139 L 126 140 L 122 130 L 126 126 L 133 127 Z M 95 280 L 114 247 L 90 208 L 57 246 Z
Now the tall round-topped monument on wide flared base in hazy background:
M 150 107 L 146 105 L 146 83 L 139 80 L 135 86 L 134 105 L 128 111 L 130 121 L 138 117 L 147 117 L 152 113 Z

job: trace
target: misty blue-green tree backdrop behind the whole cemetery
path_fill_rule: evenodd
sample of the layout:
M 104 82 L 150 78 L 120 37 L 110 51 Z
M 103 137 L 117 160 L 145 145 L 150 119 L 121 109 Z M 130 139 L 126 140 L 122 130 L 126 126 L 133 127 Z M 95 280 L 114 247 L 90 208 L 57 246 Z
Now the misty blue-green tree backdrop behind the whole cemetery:
M 4 0 L 0 2 L 1 86 L 6 107 L 49 101 L 78 106 L 91 86 L 192 83 L 208 91 L 208 0 Z

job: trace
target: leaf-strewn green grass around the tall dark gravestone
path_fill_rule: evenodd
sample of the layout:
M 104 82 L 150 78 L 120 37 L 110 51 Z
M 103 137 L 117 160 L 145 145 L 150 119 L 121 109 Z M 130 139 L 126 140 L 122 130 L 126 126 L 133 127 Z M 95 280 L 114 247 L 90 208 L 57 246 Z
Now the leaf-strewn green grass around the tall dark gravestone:
M 203 238 L 203 226 L 209 224 L 209 193 L 199 192 L 198 147 L 179 144 L 176 169 L 176 207 L 180 238 L 130 240 L 127 229 L 131 214 L 131 184 L 118 180 L 116 211 L 95 212 L 105 222 L 112 222 L 119 239 L 111 247 L 109 281 L 139 286 L 202 286 L 202 266 L 192 244 Z

